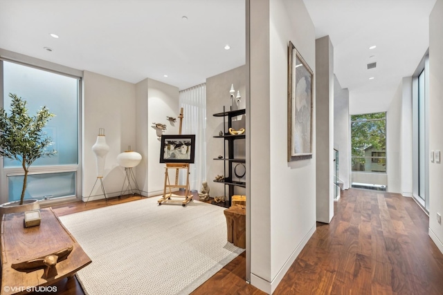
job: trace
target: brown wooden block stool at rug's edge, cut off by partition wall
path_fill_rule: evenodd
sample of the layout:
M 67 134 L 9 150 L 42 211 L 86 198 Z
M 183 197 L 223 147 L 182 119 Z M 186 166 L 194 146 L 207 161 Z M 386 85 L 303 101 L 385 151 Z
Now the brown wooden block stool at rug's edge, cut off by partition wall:
M 246 248 L 246 209 L 242 205 L 236 205 L 224 210 L 226 227 L 228 229 L 228 242 L 235 246 Z

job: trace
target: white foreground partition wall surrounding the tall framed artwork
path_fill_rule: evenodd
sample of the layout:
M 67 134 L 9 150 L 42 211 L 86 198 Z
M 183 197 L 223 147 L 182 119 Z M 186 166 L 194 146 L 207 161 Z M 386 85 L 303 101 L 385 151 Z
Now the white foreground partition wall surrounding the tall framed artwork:
M 251 283 L 271 293 L 316 229 L 316 155 L 287 162 L 286 129 L 288 44 L 315 69 L 315 32 L 302 0 L 253 0 L 250 15 Z

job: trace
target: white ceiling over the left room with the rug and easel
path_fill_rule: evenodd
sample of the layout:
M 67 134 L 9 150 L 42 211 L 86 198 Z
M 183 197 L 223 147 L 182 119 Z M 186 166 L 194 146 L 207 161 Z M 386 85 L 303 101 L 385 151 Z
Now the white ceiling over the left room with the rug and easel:
M 183 89 L 245 64 L 244 19 L 244 0 L 0 0 L 0 48 Z

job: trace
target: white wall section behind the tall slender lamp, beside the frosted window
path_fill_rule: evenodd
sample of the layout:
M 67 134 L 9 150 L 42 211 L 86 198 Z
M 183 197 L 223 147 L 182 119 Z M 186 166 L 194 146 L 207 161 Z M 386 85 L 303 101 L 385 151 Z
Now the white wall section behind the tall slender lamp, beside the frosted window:
M 96 143 L 98 129 L 104 128 L 109 153 L 105 162 L 103 182 L 108 197 L 119 196 L 125 171 L 116 157 L 136 146 L 135 85 L 118 79 L 84 71 L 83 76 L 83 187 L 82 198 L 88 200 L 96 182 L 96 158 L 91 147 Z M 104 198 L 100 182 L 89 200 Z

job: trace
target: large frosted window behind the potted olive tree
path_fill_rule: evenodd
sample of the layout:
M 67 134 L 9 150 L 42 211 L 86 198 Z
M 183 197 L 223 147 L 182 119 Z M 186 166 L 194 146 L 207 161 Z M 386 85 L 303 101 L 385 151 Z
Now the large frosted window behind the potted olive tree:
M 0 61 L 0 66 L 3 77 L 1 103 L 7 112 L 11 102 L 9 93 L 13 93 L 26 100 L 29 115 L 35 115 L 42 106 L 55 114 L 44 132 L 51 137 L 57 154 L 39 158 L 30 166 L 25 198 L 48 200 L 77 196 L 80 77 L 10 61 Z M 1 201 L 19 200 L 24 178 L 21 163 L 3 159 L 0 169 Z

